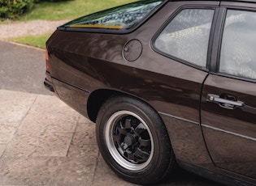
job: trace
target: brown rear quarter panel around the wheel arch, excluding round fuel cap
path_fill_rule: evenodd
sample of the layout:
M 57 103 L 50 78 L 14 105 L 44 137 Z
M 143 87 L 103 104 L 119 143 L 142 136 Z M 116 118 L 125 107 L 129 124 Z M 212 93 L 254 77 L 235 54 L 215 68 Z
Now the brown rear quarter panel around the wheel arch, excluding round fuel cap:
M 59 97 L 85 116 L 89 94 L 98 89 L 125 92 L 143 99 L 162 116 L 176 158 L 207 164 L 211 160 L 199 117 L 202 82 L 207 73 L 163 57 L 151 46 L 158 28 L 183 3 L 169 2 L 129 34 L 54 32 L 47 43 L 50 74 Z M 141 41 L 141 57 L 126 61 L 124 45 L 133 39 Z

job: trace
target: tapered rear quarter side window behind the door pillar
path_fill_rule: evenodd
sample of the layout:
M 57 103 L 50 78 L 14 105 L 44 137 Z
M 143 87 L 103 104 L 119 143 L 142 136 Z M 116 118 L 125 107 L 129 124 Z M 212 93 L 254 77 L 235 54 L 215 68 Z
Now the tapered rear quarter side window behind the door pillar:
M 171 20 L 154 46 L 168 56 L 206 67 L 214 10 L 184 9 Z

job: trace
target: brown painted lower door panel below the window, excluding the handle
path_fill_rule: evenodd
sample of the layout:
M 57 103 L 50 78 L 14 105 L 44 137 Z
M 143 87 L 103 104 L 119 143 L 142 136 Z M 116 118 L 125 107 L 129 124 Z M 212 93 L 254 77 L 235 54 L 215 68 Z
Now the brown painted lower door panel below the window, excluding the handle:
M 231 110 L 222 108 L 219 104 L 206 102 L 206 95 L 209 93 L 233 95 L 245 106 Z M 254 82 L 210 75 L 206 79 L 202 95 L 202 129 L 216 166 L 255 178 L 256 87 Z M 211 129 L 209 126 L 219 130 Z

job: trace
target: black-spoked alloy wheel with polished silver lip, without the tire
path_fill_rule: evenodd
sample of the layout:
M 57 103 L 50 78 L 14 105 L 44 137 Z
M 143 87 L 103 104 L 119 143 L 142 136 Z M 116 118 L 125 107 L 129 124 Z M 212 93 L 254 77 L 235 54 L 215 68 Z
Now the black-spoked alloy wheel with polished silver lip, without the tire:
M 106 122 L 106 146 L 116 162 L 128 170 L 148 166 L 154 154 L 152 139 L 149 127 L 133 112 L 115 112 Z

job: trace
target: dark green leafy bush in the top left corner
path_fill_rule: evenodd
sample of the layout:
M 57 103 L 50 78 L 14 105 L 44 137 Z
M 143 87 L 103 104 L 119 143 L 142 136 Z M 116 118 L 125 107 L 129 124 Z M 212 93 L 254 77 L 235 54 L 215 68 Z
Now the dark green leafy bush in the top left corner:
M 32 8 L 34 0 L 0 0 L 0 18 L 15 19 Z

